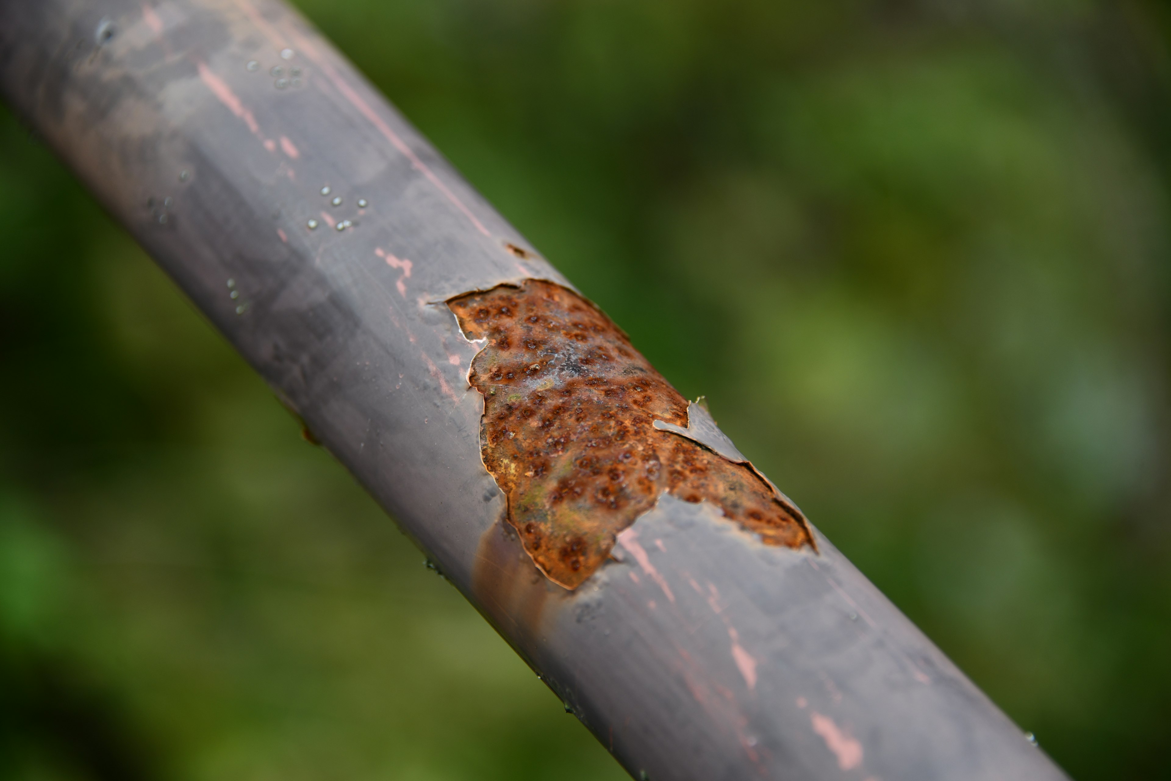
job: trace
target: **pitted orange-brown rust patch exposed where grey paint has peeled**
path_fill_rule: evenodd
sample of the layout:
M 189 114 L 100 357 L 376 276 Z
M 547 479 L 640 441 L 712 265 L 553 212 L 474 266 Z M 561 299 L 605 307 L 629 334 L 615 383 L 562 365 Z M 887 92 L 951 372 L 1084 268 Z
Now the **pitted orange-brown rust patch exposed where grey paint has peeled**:
M 685 427 L 686 399 L 577 294 L 527 280 L 448 306 L 468 338 L 487 340 L 468 377 L 484 393 L 484 464 L 553 581 L 580 585 L 664 491 L 717 505 L 767 544 L 812 544 L 749 466 L 655 429 L 656 419 Z

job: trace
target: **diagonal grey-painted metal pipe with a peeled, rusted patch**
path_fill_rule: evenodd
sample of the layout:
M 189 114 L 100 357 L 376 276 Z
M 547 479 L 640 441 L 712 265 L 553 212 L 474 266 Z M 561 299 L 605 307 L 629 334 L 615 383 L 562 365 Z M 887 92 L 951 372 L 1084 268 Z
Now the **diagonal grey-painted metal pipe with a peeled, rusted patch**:
M 279 0 L 0 0 L 0 84 L 635 777 L 1064 777 Z

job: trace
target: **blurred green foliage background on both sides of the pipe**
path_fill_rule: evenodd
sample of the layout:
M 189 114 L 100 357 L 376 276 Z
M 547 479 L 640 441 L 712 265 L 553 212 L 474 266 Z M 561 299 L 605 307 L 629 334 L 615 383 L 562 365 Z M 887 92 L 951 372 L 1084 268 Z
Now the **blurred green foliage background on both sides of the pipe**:
M 1163 5 L 301 7 L 1074 777 L 1171 779 Z M 0 775 L 624 777 L 7 111 L 0 235 Z

